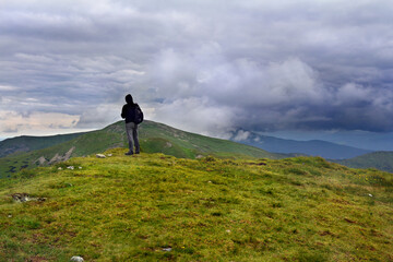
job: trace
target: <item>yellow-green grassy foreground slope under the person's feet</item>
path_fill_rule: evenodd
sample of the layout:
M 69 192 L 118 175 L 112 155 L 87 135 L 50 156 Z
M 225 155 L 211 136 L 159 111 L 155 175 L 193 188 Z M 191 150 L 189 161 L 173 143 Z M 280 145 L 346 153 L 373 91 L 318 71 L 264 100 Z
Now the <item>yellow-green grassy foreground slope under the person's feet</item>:
M 0 180 L 0 260 L 393 260 L 392 174 L 124 152 Z

